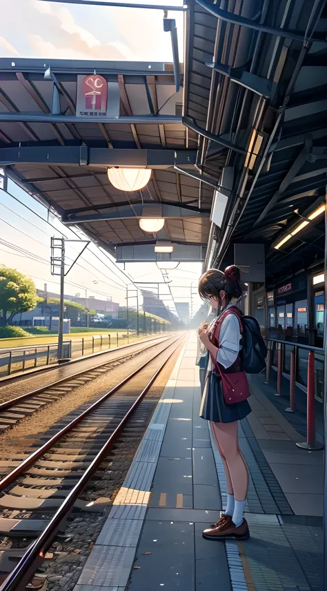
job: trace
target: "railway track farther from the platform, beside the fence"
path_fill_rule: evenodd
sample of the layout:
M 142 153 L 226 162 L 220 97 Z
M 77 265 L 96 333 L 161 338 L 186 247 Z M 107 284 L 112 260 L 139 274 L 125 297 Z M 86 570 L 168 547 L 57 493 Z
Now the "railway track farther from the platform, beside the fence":
M 171 337 L 161 339 L 159 343 L 167 342 L 171 340 Z M 130 354 L 127 353 L 126 348 L 123 348 L 123 354 L 115 357 L 108 362 L 102 362 L 90 369 L 78 371 L 69 377 L 62 377 L 51 384 L 41 386 L 30 392 L 26 392 L 17 397 L 10 398 L 6 402 L 0 403 L 0 434 L 6 431 L 8 428 L 12 428 L 22 419 L 32 415 L 36 411 L 39 411 L 47 404 L 52 404 L 61 399 L 61 397 L 70 394 L 75 388 L 80 388 L 88 382 L 92 382 L 101 377 L 101 375 L 108 373 L 108 371 L 115 368 L 116 364 L 123 360 L 128 362 L 135 355 L 139 355 L 143 351 L 148 351 L 158 346 L 158 340 L 150 342 L 144 346 L 143 349 L 137 348 L 136 351 L 132 351 Z M 1 465 L 1 464 L 0 464 Z

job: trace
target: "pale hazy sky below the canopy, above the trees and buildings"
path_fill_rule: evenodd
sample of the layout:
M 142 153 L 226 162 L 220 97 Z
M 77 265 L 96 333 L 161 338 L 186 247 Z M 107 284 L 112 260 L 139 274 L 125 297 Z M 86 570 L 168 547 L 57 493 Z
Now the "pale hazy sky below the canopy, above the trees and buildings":
M 49 217 L 50 215 L 50 217 Z M 0 189 L 0 265 L 26 273 L 38 289 L 44 284 L 48 291 L 59 291 L 59 277 L 50 274 L 51 236 L 68 240 L 83 239 L 78 229 L 64 226 L 59 218 L 48 213 L 48 209 L 8 179 L 8 193 Z M 81 251 L 77 242 L 66 245 L 66 271 Z M 189 302 L 193 313 L 199 309 L 201 300 L 197 295 L 197 282 L 201 275 L 201 263 L 180 263 L 173 271 L 168 271 L 169 287 L 155 263 L 134 262 L 116 265 L 115 259 L 91 243 L 66 277 L 65 293 L 81 294 L 106 300 L 112 297 L 121 306 L 126 304 L 126 287 L 133 289 L 132 282 L 161 282 L 159 295 L 165 304 L 174 311 L 175 302 Z M 97 282 L 97 283 L 94 283 Z M 139 286 L 154 290 L 157 286 Z M 130 293 L 132 298 L 132 292 Z M 141 301 L 141 300 L 140 300 Z M 130 299 L 130 305 L 133 301 Z

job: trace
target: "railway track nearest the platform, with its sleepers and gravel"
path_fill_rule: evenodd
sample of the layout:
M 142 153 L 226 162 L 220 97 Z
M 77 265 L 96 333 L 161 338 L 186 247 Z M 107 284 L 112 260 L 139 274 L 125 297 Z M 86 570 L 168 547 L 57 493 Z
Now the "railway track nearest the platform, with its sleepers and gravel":
M 121 456 L 127 449 L 131 461 L 135 440 L 143 436 L 157 404 L 154 384 L 183 340 L 179 335 L 157 344 L 150 361 L 97 402 L 66 417 L 66 425 L 32 453 L 1 462 L 6 473 L 0 481 L 1 591 L 45 590 L 47 562 L 53 559 L 48 549 L 72 512 L 92 515 L 94 522 L 95 514 L 108 511 L 115 492 L 103 493 L 112 479 L 117 490 Z M 45 572 L 34 574 L 43 562 Z

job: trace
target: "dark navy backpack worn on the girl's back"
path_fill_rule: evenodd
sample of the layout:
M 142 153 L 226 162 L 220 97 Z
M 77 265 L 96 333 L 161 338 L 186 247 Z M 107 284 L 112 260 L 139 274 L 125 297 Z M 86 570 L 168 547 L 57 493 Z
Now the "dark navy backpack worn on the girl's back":
M 244 316 L 237 307 L 233 311 L 242 324 L 242 366 L 246 373 L 260 373 L 266 368 L 267 347 L 262 338 L 259 322 L 253 316 Z

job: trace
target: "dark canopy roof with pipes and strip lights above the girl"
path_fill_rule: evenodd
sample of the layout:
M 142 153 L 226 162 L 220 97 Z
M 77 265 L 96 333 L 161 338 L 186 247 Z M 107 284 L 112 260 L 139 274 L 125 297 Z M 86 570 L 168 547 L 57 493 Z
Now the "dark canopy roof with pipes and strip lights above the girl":
M 264 242 L 268 274 L 310 266 L 324 254 L 324 216 L 295 229 L 325 196 L 326 1 L 188 5 L 183 121 L 199 133 L 201 170 L 228 172 L 230 189 L 207 264 Z

